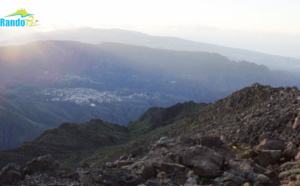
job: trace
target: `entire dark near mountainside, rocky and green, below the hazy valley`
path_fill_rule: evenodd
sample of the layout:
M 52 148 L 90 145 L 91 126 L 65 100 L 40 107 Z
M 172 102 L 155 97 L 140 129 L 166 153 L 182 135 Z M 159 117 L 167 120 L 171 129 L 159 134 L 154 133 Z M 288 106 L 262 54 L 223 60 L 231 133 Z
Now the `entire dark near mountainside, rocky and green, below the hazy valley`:
M 68 173 L 58 170 L 47 156 L 56 169 L 38 169 L 39 163 L 20 161 L 25 169 L 6 166 L 0 179 L 14 170 L 28 174 L 15 180 L 19 184 L 50 184 L 52 176 L 59 185 L 297 185 L 299 108 L 296 87 L 253 84 L 208 105 L 189 102 L 151 108 L 128 128 L 96 120 L 62 124 L 0 157 L 4 162 L 13 153 L 16 160 L 44 149 L 40 152 L 53 153 Z M 54 147 L 65 149 L 60 151 L 65 156 L 49 150 Z M 79 161 L 80 168 L 73 169 L 75 161 L 70 159 Z

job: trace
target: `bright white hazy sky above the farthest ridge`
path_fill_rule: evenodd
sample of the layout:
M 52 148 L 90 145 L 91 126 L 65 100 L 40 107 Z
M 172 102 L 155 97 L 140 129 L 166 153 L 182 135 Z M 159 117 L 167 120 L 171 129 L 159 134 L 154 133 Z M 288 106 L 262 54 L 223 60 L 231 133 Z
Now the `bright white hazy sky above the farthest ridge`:
M 121 28 L 300 58 L 299 0 L 6 1 L 0 18 L 25 8 L 32 28 L 1 28 L 0 40 L 80 27 Z

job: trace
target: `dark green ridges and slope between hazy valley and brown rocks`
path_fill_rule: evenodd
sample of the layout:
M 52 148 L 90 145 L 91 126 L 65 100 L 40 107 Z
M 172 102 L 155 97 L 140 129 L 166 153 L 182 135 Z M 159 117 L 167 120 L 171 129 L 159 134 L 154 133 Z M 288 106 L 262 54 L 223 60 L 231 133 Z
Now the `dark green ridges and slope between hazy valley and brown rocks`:
M 63 123 L 58 128 L 45 131 L 32 142 L 0 155 L 7 157 L 6 161 L 18 155 L 18 161 L 22 162 L 42 154 L 52 154 L 65 169 L 85 163 L 101 164 L 122 154 L 141 156 L 161 136 L 176 137 L 191 130 L 187 118 L 205 106 L 186 102 L 168 108 L 150 108 L 129 127 L 101 120 L 84 124 Z M 0 161 L 0 166 L 6 161 Z

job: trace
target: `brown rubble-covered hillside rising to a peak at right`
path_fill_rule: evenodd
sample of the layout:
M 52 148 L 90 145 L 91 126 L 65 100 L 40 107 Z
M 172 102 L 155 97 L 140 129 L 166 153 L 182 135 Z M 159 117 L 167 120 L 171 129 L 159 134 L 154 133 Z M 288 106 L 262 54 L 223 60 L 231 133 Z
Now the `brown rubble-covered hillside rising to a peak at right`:
M 297 87 L 253 84 L 205 107 L 193 118 L 199 123 L 194 127 L 239 144 L 255 145 L 266 137 L 297 144 L 299 95 Z

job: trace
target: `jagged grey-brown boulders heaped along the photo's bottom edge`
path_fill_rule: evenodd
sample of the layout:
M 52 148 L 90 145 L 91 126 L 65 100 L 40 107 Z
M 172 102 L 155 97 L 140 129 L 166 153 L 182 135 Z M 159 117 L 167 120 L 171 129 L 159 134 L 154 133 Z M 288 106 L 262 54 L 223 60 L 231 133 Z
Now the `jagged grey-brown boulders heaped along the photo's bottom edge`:
M 24 168 L 8 164 L 0 178 L 4 185 L 300 185 L 300 153 L 286 160 L 287 149 L 274 139 L 240 153 L 218 137 L 162 137 L 142 158 L 126 154 L 66 173 L 46 155 Z

